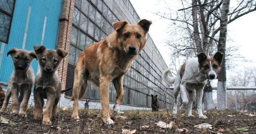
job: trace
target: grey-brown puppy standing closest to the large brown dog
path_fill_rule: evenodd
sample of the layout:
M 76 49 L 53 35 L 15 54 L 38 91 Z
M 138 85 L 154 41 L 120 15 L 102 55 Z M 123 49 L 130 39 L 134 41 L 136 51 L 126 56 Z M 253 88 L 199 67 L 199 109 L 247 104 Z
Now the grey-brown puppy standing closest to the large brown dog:
M 62 49 L 49 50 L 44 46 L 34 46 L 40 65 L 34 86 L 34 118 L 42 119 L 44 99 L 47 99 L 42 124 L 51 125 L 51 117 L 57 115 L 57 105 L 61 93 L 58 66 L 68 52 Z M 52 114 L 53 112 L 53 114 Z

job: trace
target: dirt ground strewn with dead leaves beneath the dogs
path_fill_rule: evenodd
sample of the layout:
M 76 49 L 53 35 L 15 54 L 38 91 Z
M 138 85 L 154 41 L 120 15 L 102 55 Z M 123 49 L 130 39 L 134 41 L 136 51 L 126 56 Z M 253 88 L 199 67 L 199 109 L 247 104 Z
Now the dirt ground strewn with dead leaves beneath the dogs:
M 80 109 L 80 120 L 71 120 L 72 108 L 68 108 L 59 109 L 58 116 L 52 118 L 52 126 L 44 126 L 42 120 L 34 120 L 33 111 L 34 109 L 29 107 L 26 118 L 11 116 L 7 114 L 8 112 L 0 113 L 0 117 L 10 120 L 9 124 L 0 123 L 0 134 L 121 134 L 124 129 L 135 129 L 135 134 L 256 134 L 256 116 L 230 110 L 208 110 L 204 113 L 207 119 L 199 119 L 195 111 L 195 117 L 187 117 L 187 113 L 172 116 L 170 110 L 127 110 L 122 116 L 112 114 L 115 124 L 106 125 L 98 117 L 100 110 Z M 173 122 L 172 128 L 161 128 L 156 125 L 158 121 L 168 124 Z M 194 128 L 195 125 L 202 123 L 211 124 L 212 129 Z M 244 127 L 250 128 L 246 131 L 237 130 Z M 183 132 L 180 132 L 181 130 Z

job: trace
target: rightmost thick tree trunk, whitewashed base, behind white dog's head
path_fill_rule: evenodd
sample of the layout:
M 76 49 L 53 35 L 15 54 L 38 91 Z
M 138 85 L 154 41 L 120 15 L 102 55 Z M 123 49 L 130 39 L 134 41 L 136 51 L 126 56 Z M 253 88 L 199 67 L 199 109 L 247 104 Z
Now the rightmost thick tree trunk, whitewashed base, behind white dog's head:
M 218 51 L 224 54 L 223 61 L 221 64 L 221 70 L 218 74 L 218 87 L 217 87 L 217 102 L 218 110 L 224 110 L 227 108 L 227 94 L 226 94 L 226 36 L 227 36 L 227 25 L 228 25 L 228 10 L 230 0 L 223 0 L 221 16 L 220 16 L 220 36 L 218 41 Z

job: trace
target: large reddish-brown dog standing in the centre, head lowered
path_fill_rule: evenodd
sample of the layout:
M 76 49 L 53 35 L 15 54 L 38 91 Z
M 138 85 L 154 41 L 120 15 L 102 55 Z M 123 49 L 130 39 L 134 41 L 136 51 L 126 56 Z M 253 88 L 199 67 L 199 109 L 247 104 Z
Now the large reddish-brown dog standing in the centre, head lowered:
M 146 33 L 151 24 L 151 21 L 145 19 L 136 25 L 130 25 L 126 21 L 114 22 L 115 32 L 81 52 L 75 70 L 73 119 L 79 119 L 78 100 L 84 97 L 87 81 L 91 80 L 100 87 L 102 120 L 107 124 L 114 123 L 110 119 L 108 100 L 110 82 L 113 81 L 117 92 L 114 110 L 120 113 L 120 104 L 124 97 L 123 76 L 130 69 L 132 60 L 145 46 Z

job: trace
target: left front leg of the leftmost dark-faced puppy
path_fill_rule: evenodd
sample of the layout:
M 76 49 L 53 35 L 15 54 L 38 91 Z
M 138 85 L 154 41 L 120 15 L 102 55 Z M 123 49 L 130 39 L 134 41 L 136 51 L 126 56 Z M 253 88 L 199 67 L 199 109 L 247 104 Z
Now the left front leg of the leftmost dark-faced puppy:
M 18 114 L 19 102 L 18 102 L 19 86 L 16 83 L 12 85 L 12 112 L 11 114 Z

